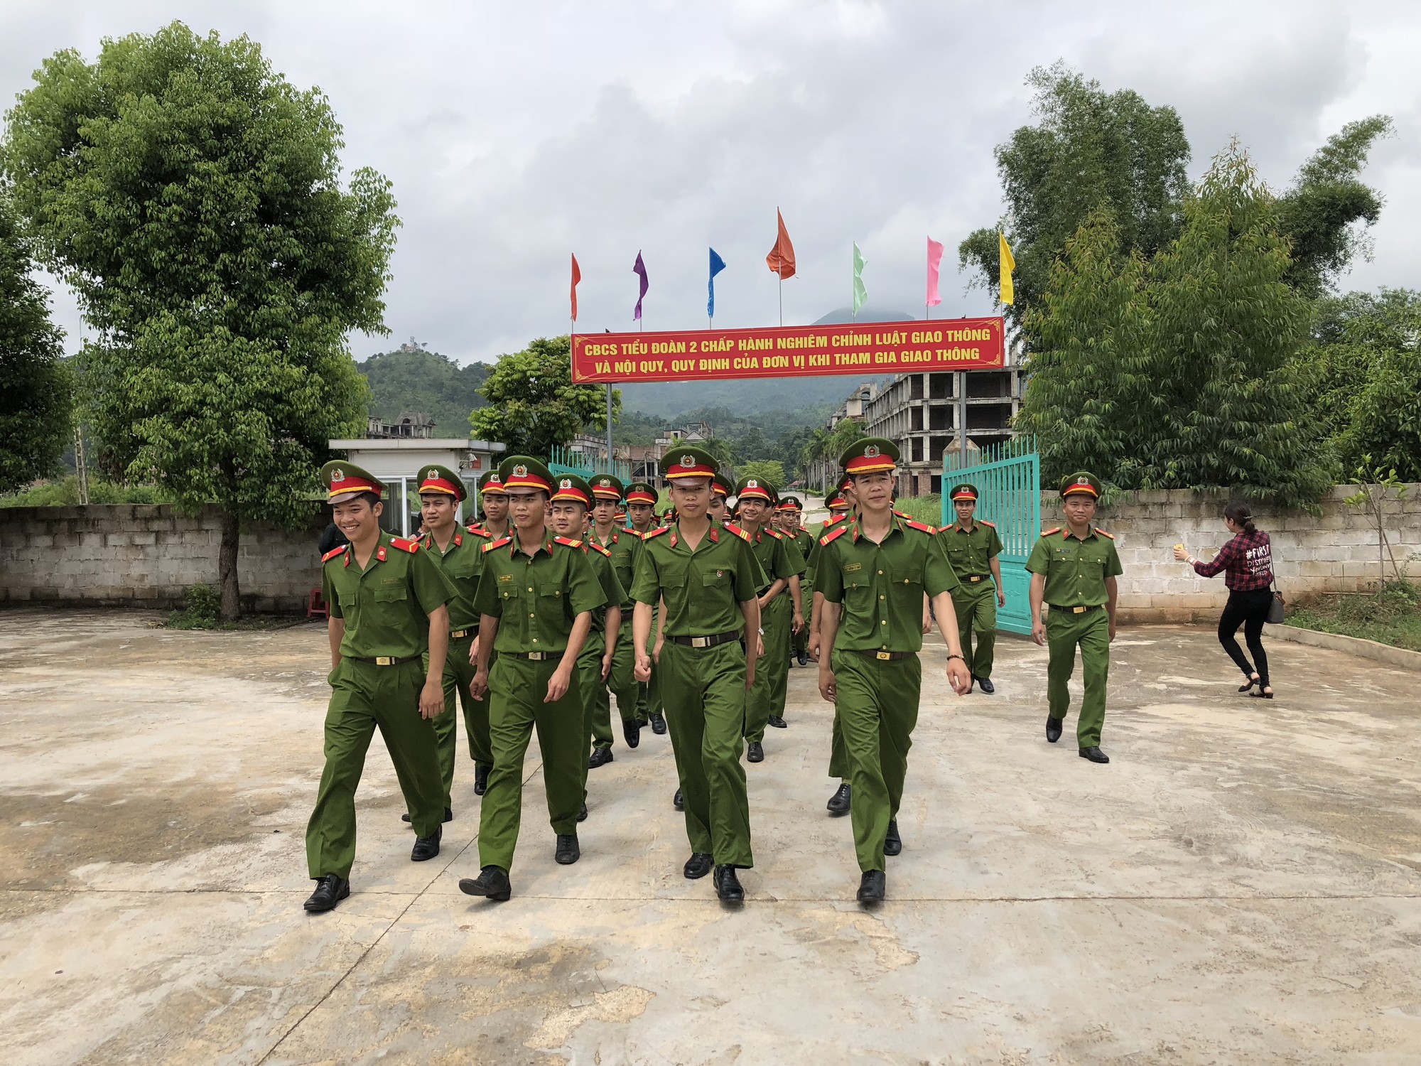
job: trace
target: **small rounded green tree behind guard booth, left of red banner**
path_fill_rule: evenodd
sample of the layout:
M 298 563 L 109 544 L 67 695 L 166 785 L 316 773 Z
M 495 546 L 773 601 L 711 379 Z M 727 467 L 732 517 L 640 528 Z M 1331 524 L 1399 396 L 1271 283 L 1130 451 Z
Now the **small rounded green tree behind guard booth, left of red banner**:
M 499 355 L 482 392 L 489 405 L 469 415 L 475 436 L 502 441 L 516 455 L 546 456 L 584 426 L 607 429 L 605 387 L 573 384 L 566 334 L 539 337 L 523 351 Z M 620 409 L 621 391 L 614 389 L 614 422 Z

